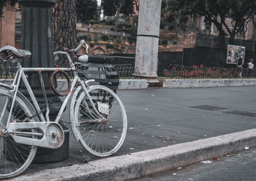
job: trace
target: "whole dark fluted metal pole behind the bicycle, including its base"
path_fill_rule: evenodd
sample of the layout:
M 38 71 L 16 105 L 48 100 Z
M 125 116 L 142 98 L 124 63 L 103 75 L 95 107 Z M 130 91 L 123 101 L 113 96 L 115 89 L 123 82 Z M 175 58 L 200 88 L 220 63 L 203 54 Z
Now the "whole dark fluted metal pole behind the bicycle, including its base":
M 54 67 L 52 51 L 52 6 L 56 0 L 19 0 L 22 6 L 22 26 L 20 48 L 31 51 L 30 58 L 24 58 L 22 67 Z M 51 72 L 42 72 L 44 86 L 49 102 L 56 95 L 49 85 Z M 38 72 L 29 73 L 28 81 L 40 106 L 45 104 L 44 91 L 39 81 Z M 20 91 L 29 98 L 28 91 Z M 57 108 L 58 109 L 58 108 Z M 55 110 L 58 113 L 58 110 Z M 52 115 L 56 117 L 56 115 Z M 50 114 L 51 118 L 51 114 Z M 67 128 L 63 128 L 67 129 Z M 65 141 L 60 148 L 38 148 L 33 162 L 46 163 L 67 159 L 69 155 L 69 136 L 65 133 Z

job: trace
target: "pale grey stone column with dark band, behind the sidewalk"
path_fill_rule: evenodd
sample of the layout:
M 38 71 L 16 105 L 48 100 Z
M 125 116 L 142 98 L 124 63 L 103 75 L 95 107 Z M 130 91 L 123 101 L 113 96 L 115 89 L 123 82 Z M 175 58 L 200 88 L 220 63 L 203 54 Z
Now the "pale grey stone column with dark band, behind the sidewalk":
M 140 0 L 135 67 L 141 77 L 156 79 L 161 0 Z

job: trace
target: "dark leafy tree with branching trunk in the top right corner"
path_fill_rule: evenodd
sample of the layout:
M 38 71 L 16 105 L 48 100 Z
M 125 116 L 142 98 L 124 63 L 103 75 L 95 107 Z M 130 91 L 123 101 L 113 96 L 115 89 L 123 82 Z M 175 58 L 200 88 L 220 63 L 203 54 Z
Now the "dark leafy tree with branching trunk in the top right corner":
M 169 12 L 175 11 L 180 17 L 204 16 L 212 22 L 220 36 L 228 35 L 234 38 L 237 33 L 245 33 L 246 26 L 253 19 L 256 12 L 255 0 L 167 0 Z M 227 24 L 227 18 L 232 20 L 232 27 Z

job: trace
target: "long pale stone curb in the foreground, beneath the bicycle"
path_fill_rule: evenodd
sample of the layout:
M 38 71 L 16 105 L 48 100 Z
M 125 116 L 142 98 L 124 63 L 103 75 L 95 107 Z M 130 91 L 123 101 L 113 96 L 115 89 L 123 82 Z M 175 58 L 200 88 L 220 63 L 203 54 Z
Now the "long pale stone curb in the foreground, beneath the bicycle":
M 11 180 L 126 180 L 256 146 L 256 129 L 109 157 L 88 164 L 46 169 Z

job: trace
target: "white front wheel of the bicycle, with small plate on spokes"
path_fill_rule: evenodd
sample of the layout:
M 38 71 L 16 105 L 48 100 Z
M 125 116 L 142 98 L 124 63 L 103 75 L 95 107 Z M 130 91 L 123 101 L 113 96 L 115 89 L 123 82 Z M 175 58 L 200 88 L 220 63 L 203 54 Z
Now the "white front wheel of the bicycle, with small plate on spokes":
M 109 88 L 91 86 L 88 90 L 96 107 L 84 91 L 76 100 L 74 123 L 79 141 L 97 157 L 109 156 L 120 149 L 127 131 L 127 116 L 120 98 Z

